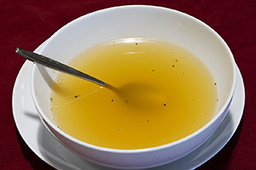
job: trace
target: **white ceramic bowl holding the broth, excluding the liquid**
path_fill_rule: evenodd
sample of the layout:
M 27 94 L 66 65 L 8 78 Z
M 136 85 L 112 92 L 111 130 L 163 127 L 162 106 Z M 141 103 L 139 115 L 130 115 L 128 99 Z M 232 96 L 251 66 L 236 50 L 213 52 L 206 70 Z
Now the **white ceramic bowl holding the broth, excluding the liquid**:
M 170 144 L 141 150 L 115 150 L 86 144 L 55 126 L 50 111 L 52 70 L 34 65 L 32 99 L 41 120 L 70 150 L 108 167 L 155 167 L 189 154 L 206 141 L 223 120 L 235 90 L 236 69 L 230 48 L 209 26 L 188 14 L 154 6 L 121 6 L 86 14 L 73 20 L 49 38 L 41 54 L 67 63 L 85 48 L 120 37 L 151 37 L 170 41 L 198 56 L 218 84 L 215 116 L 195 133 Z

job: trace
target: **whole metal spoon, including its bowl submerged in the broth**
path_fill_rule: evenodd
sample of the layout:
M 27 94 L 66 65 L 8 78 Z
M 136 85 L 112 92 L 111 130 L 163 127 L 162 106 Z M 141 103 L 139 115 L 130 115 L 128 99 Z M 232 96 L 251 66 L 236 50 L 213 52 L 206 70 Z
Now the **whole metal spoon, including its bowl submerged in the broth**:
M 15 52 L 16 54 L 19 54 L 20 56 L 38 64 L 47 66 L 57 71 L 65 72 L 75 77 L 83 78 L 84 80 L 94 82 L 102 87 L 111 89 L 114 93 L 118 94 L 121 99 L 124 99 L 126 103 L 129 102 L 129 104 L 133 107 L 144 109 L 145 107 L 148 107 L 147 105 L 150 105 L 151 109 L 159 109 L 159 106 L 164 102 L 162 100 L 165 100 L 164 93 L 160 93 L 146 84 L 128 83 L 122 87 L 115 88 L 106 82 L 102 82 L 95 77 L 91 77 L 84 72 L 73 69 L 72 67 L 64 65 L 54 59 L 49 59 L 41 54 L 36 54 L 22 48 L 16 48 Z

